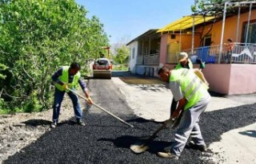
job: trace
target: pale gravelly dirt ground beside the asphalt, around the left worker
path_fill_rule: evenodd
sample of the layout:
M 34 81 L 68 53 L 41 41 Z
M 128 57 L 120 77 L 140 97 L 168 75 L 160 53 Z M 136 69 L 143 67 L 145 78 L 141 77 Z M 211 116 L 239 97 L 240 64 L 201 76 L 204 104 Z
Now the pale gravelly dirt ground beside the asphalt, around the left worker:
M 62 103 L 60 122 L 74 117 L 73 105 L 68 96 Z M 36 141 L 50 131 L 52 110 L 40 113 L 0 115 L 0 163 Z

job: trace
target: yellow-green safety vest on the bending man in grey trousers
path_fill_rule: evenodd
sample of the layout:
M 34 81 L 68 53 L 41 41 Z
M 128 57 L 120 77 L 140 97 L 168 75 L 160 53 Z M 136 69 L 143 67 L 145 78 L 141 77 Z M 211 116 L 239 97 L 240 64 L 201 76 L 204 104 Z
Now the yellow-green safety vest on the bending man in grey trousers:
M 187 68 L 173 70 L 170 74 L 170 82 L 174 81 L 180 84 L 182 94 L 187 100 L 184 110 L 194 106 L 208 93 L 208 86 L 200 80 L 193 70 Z

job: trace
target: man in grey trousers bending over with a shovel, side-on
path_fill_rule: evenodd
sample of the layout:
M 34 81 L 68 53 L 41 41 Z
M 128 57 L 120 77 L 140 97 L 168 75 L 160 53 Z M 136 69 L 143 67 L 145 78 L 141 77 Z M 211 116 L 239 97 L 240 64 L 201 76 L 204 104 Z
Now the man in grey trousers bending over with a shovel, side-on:
M 158 70 L 158 75 L 163 81 L 169 82 L 174 100 L 178 101 L 177 109 L 171 118 L 166 120 L 166 123 L 171 123 L 171 120 L 177 119 L 183 110 L 174 143 L 165 149 L 166 152 L 158 152 L 158 155 L 163 158 L 178 159 L 185 146 L 202 151 L 207 150 L 198 122 L 199 116 L 206 110 L 210 102 L 208 86 L 200 80 L 193 70 L 186 68 L 170 71 L 168 68 L 162 67 Z

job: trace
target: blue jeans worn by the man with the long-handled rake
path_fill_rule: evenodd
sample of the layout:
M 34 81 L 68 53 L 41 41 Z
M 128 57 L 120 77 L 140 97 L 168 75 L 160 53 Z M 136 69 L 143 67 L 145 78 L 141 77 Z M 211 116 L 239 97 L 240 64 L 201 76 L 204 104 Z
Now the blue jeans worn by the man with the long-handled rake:
M 65 91 L 60 91 L 58 88 L 55 88 L 54 92 L 54 105 L 53 105 L 53 121 L 58 123 L 58 115 L 62 105 L 62 100 L 65 95 Z M 77 120 L 82 119 L 82 110 L 80 107 L 80 103 L 78 101 L 78 96 L 76 96 L 73 92 L 67 92 L 68 96 L 72 100 L 74 107 L 74 115 Z

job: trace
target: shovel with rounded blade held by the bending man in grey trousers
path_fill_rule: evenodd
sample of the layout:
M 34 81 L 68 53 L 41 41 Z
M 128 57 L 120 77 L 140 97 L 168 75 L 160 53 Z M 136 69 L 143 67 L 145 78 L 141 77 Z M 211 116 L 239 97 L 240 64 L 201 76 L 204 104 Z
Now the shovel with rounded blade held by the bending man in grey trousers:
M 182 113 L 178 116 L 178 118 L 182 115 Z M 157 131 L 154 131 L 154 134 L 150 136 L 149 139 L 146 139 L 145 142 L 138 142 L 134 143 L 133 145 L 130 146 L 130 150 L 132 150 L 135 154 L 141 154 L 144 151 L 149 149 L 149 143 L 156 138 L 158 135 L 159 131 L 162 131 L 163 129 L 166 129 L 166 127 L 174 128 L 178 126 L 178 118 L 176 119 L 170 119 L 168 123 L 165 121 L 161 127 L 158 127 Z

